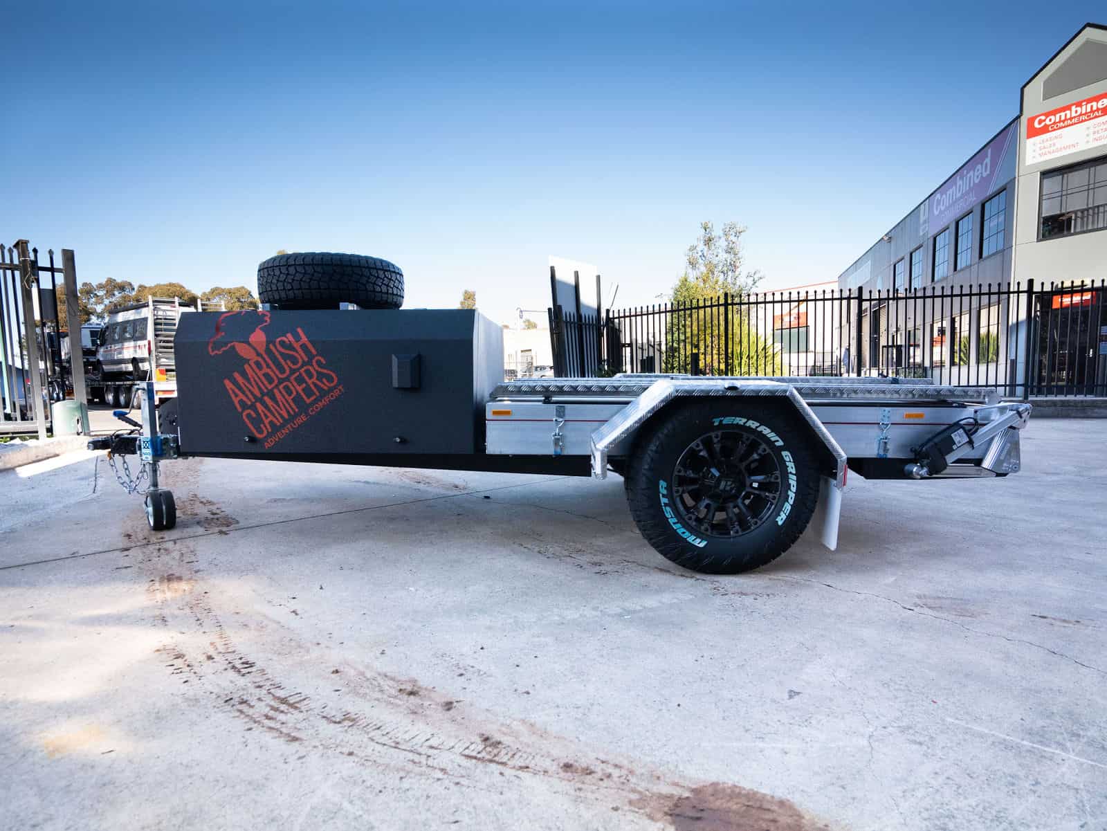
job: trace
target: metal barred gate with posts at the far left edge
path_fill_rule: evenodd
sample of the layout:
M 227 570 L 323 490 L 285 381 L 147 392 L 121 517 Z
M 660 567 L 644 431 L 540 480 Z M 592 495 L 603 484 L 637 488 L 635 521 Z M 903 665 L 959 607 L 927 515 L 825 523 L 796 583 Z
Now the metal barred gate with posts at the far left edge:
M 0 246 L 0 435 L 37 434 L 46 438 L 55 401 L 85 401 L 81 354 L 81 314 L 73 251 L 53 249 L 46 264 L 25 239 Z M 65 297 L 65 320 L 59 319 L 58 293 Z M 75 333 L 66 360 L 68 333 Z M 82 411 L 83 413 L 83 411 Z M 86 416 L 82 427 L 89 432 Z

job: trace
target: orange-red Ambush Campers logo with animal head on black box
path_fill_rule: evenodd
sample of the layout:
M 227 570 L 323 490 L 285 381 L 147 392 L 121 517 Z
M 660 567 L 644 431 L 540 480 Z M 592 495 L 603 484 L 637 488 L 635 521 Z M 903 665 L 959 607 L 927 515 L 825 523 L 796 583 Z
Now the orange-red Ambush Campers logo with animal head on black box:
M 303 329 L 271 340 L 265 310 L 226 312 L 208 341 L 213 357 L 234 350 L 241 361 L 223 378 L 224 388 L 252 436 L 266 449 L 306 424 L 343 393 L 338 375 Z

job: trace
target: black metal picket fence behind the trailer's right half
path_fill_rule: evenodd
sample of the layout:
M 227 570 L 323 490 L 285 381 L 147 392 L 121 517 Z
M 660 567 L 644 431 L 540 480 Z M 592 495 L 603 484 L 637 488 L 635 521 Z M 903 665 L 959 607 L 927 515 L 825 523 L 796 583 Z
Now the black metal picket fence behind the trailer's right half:
M 1107 282 L 724 294 L 550 310 L 558 375 L 870 375 L 1107 395 Z

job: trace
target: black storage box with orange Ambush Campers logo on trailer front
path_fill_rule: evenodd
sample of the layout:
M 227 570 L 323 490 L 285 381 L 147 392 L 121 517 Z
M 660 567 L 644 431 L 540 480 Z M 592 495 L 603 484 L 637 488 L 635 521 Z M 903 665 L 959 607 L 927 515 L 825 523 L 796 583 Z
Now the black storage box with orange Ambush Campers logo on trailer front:
M 484 453 L 503 339 L 468 309 L 184 313 L 180 451 L 319 461 Z

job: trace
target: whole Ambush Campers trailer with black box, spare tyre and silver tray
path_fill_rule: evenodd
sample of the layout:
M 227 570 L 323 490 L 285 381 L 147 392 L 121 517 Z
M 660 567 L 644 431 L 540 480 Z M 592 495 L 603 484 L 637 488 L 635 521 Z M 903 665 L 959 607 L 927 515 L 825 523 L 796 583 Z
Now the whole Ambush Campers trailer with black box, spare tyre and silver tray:
M 141 425 L 89 445 L 142 456 L 154 530 L 176 521 L 159 465 L 182 457 L 614 471 L 656 551 L 735 573 L 774 560 L 813 519 L 835 548 L 850 468 L 904 480 L 1017 472 L 1031 414 L 994 389 L 917 378 L 505 383 L 500 328 L 474 310 L 401 309 L 403 274 L 385 260 L 279 256 L 259 267 L 258 289 L 260 310 L 180 315 L 177 397 L 158 408 L 145 382 Z

